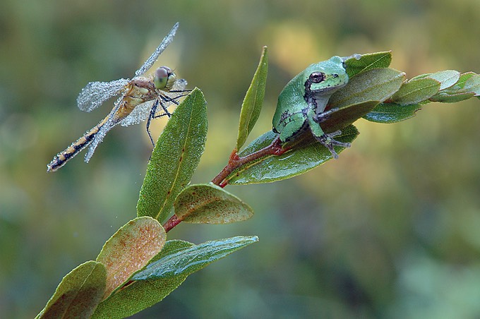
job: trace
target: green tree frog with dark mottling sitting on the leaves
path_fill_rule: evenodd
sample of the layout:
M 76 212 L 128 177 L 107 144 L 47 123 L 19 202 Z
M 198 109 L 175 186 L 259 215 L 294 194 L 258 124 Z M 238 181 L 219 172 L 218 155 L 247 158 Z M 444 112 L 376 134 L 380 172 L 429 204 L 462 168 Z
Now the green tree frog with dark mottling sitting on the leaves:
M 280 133 L 282 143 L 293 140 L 306 129 L 310 129 L 313 136 L 323 143 L 334 157 L 337 157 L 337 154 L 332 151 L 332 145 L 349 146 L 332 139 L 339 133 L 323 133 L 319 124 L 332 94 L 348 83 L 343 61 L 340 56 L 333 56 L 327 61 L 312 64 L 295 76 L 280 92 L 272 124 L 273 131 Z

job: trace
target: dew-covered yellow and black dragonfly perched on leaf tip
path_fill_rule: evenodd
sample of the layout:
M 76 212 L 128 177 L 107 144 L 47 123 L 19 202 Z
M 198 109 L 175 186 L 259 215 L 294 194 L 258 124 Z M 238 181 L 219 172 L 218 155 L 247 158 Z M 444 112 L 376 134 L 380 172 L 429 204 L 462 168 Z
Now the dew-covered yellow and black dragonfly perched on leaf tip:
M 179 99 L 188 94 L 185 79 L 177 79 L 176 74 L 168 66 L 157 68 L 152 76 L 144 76 L 155 64 L 164 49 L 172 42 L 179 23 L 175 23 L 169 34 L 164 37 L 155 52 L 140 66 L 132 79 L 120 78 L 110 82 L 90 82 L 80 91 L 77 97 L 78 108 L 91 112 L 105 101 L 116 95 L 121 96 L 114 102 L 112 111 L 99 124 L 87 131 L 64 151 L 55 155 L 47 164 L 47 171 L 56 171 L 66 162 L 78 155 L 90 145 L 85 154 L 85 162 L 90 161 L 97 146 L 107 133 L 116 125 L 129 126 L 147 121 L 147 133 L 150 134 L 150 121 L 161 116 L 171 116 L 168 107 L 179 104 Z

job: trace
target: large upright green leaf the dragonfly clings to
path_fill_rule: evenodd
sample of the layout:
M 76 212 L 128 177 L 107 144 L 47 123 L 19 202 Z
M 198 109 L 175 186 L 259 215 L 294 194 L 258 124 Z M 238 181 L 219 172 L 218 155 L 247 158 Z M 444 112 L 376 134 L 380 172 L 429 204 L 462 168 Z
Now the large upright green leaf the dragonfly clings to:
M 200 161 L 207 131 L 205 98 L 195 88 L 176 108 L 155 145 L 138 198 L 138 216 L 164 222 Z

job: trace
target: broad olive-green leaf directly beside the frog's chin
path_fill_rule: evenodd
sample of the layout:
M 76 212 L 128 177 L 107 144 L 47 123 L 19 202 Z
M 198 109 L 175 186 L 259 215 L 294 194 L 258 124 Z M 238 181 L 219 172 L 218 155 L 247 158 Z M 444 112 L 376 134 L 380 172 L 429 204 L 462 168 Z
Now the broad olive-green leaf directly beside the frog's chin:
M 344 88 L 335 92 L 328 102 L 334 108 L 367 101 L 383 102 L 400 89 L 404 73 L 392 68 L 373 68 L 355 76 Z

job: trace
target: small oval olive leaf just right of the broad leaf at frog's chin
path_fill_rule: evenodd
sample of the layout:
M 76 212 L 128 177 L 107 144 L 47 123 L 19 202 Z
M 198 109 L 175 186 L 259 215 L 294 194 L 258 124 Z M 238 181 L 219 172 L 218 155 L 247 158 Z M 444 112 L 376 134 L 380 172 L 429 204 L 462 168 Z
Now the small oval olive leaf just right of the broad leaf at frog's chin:
M 392 102 L 409 105 L 424 102 L 440 90 L 440 82 L 433 78 L 417 78 L 403 83 L 398 92 L 392 96 Z

